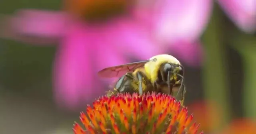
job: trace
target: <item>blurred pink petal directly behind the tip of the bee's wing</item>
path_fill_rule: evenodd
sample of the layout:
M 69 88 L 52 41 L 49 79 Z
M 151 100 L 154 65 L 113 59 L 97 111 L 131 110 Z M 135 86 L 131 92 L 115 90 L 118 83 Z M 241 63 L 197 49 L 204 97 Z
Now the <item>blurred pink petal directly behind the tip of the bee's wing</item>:
M 88 29 L 88 28 L 87 28 Z M 129 61 L 124 56 L 123 52 L 120 51 L 117 47 L 113 46 L 116 42 L 115 39 L 112 39 L 112 35 L 109 34 L 111 29 L 108 28 L 93 28 L 93 30 L 87 31 L 90 34 L 90 39 L 92 42 L 88 46 L 90 51 L 93 52 L 94 59 L 94 71 L 98 71 L 106 68 L 117 65 L 122 65 L 129 63 Z M 102 83 L 110 85 L 111 81 L 117 78 L 101 78 L 97 74 L 95 75 Z M 104 94 L 108 88 L 102 88 L 98 92 Z M 101 94 L 101 95 L 102 95 Z

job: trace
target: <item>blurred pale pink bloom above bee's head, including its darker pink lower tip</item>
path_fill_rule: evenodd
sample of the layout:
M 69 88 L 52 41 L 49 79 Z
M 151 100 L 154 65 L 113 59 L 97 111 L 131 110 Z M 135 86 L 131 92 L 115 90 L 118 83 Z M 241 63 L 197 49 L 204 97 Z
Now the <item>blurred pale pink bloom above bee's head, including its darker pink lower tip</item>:
M 150 22 L 157 42 L 186 64 L 200 66 L 203 51 L 198 38 L 208 24 L 213 1 L 140 1 L 139 7 L 143 10 L 139 10 L 139 18 Z

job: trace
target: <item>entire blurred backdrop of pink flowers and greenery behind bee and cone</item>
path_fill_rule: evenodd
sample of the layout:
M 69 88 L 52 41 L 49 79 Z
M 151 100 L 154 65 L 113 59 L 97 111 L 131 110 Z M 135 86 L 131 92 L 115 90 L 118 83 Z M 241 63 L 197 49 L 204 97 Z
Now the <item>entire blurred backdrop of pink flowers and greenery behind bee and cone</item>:
M 206 134 L 255 134 L 255 30 L 255 0 L 1 0 L 0 133 L 72 134 L 100 69 L 166 53 Z

